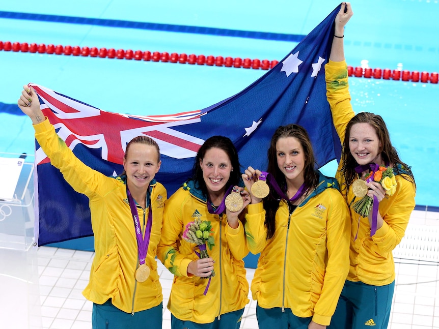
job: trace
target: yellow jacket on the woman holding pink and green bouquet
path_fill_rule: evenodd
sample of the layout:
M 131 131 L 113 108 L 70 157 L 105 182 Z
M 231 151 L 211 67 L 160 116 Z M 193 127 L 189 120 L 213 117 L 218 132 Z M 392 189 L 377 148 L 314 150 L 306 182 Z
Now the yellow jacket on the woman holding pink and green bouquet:
M 187 265 L 198 259 L 195 244 L 183 240 L 182 234 L 195 218 L 210 221 L 215 246 L 207 253 L 214 261 L 215 276 L 208 279 L 187 274 Z M 242 258 L 249 253 L 244 228 L 233 229 L 226 214 L 214 215 L 207 210 L 206 197 L 189 180 L 166 202 L 163 229 L 157 257 L 174 274 L 168 309 L 182 321 L 210 323 L 222 314 L 237 311 L 249 303 L 249 283 L 245 278 Z

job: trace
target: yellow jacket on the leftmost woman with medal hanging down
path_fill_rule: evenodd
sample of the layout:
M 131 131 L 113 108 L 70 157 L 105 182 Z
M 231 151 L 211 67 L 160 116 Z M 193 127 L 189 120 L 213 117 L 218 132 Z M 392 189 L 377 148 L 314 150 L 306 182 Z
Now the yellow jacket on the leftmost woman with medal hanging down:
M 166 189 L 151 182 L 153 219 L 146 257 L 151 275 L 146 281 L 137 282 L 134 272 L 138 267 L 138 248 L 123 177 L 107 177 L 82 163 L 58 137 L 47 118 L 34 128 L 35 137 L 51 164 L 60 169 L 76 192 L 90 199 L 95 256 L 84 296 L 96 304 L 112 298 L 113 305 L 127 313 L 159 305 L 163 295 L 154 258 L 160 240 Z M 148 208 L 144 211 L 138 206 L 138 214 L 145 232 Z

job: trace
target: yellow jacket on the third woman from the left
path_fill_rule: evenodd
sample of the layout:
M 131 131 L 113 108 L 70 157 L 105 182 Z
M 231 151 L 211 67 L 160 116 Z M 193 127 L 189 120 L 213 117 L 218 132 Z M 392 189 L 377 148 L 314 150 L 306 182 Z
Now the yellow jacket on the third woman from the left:
M 245 232 L 250 251 L 261 253 L 252 281 L 258 305 L 328 325 L 348 273 L 350 221 L 335 178 L 320 174 L 319 182 L 291 214 L 280 201 L 270 240 L 262 202 L 249 204 Z

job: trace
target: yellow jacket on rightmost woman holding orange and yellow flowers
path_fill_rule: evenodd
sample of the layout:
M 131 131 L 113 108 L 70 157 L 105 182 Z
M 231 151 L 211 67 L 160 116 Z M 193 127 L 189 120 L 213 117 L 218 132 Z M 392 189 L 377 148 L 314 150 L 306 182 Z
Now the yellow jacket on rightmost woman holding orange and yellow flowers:
M 350 104 L 349 85 L 346 62 L 329 61 L 325 65 L 326 95 L 331 106 L 334 125 L 343 143 L 348 122 L 354 116 Z M 354 198 L 352 187 L 343 188 L 345 181 L 340 175 L 343 163 L 339 164 L 337 179 L 345 200 L 352 203 Z M 400 171 L 403 171 L 398 164 Z M 381 228 L 370 236 L 370 225 L 367 218 L 360 218 L 350 206 L 351 239 L 350 268 L 347 279 L 361 281 L 366 284 L 383 286 L 395 280 L 395 263 L 392 250 L 401 242 L 405 228 L 415 207 L 415 185 L 405 178 L 406 174 L 397 174 L 397 189 L 394 195 L 386 195 L 379 202 L 378 211 L 384 220 Z M 347 194 L 347 196 L 346 196 Z M 355 234 L 358 231 L 358 238 Z

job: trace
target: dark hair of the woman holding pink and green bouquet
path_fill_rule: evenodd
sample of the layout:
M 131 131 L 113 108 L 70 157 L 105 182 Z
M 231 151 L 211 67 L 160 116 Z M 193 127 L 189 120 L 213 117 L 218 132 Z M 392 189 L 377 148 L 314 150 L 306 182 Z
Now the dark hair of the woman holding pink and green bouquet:
M 239 184 L 241 173 L 238 159 L 238 152 L 236 151 L 235 146 L 232 141 L 228 137 L 224 136 L 212 136 L 201 145 L 198 150 L 197 157 L 195 158 L 195 164 L 193 168 L 193 176 L 192 179 L 198 183 L 199 188 L 203 192 L 203 194 L 207 197 L 207 187 L 206 182 L 204 182 L 203 178 L 203 170 L 201 169 L 200 160 L 204 159 L 206 152 L 211 148 L 219 148 L 222 149 L 229 157 L 229 160 L 232 164 L 232 171 L 230 172 L 229 181 L 226 184 L 226 188 L 229 186 L 235 186 Z

